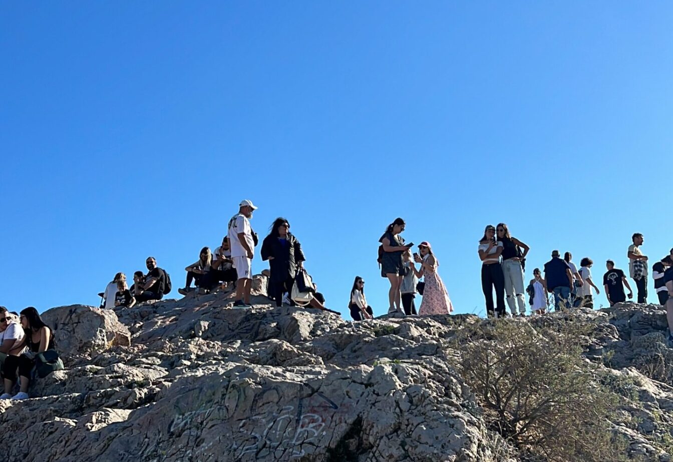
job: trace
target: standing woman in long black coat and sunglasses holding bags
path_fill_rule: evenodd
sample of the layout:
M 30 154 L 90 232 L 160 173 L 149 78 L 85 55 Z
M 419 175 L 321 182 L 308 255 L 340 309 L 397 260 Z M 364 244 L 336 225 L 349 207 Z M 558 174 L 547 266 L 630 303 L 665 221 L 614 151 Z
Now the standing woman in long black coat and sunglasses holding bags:
M 269 297 L 276 306 L 283 305 L 283 293 L 292 293 L 292 285 L 297 269 L 302 268 L 304 252 L 302 244 L 289 232 L 290 224 L 284 218 L 277 218 L 271 225 L 271 233 L 262 242 L 262 260 L 269 260 Z

